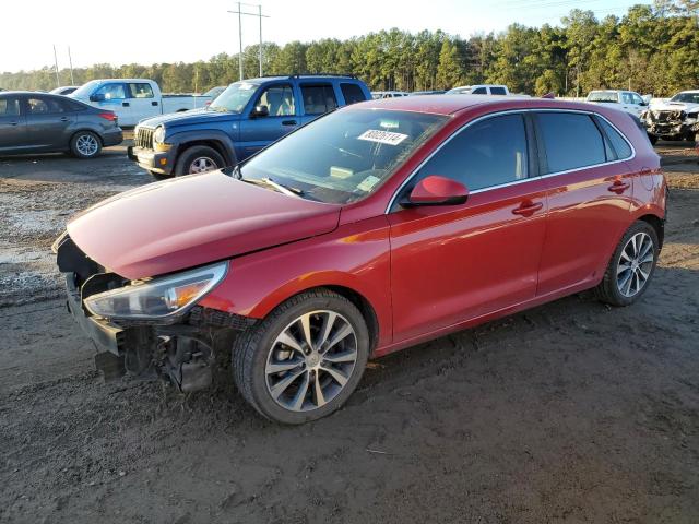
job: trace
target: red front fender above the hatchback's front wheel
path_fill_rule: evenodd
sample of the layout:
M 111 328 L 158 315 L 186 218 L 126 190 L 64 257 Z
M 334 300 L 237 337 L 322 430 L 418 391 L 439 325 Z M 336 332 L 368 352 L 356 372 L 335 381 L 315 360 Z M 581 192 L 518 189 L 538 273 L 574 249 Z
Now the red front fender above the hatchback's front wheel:
M 203 307 L 262 319 L 294 295 L 343 287 L 360 295 L 379 324 L 378 345 L 392 338 L 390 240 L 384 215 L 340 226 L 332 233 L 277 246 L 230 261 Z

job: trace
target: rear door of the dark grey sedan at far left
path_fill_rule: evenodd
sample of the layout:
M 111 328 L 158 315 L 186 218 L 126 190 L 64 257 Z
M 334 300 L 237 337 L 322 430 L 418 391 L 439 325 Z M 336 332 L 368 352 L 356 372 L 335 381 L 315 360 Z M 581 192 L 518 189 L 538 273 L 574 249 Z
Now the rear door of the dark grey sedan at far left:
M 27 142 L 36 151 L 68 148 L 66 139 L 74 116 L 51 97 L 29 95 L 24 99 Z

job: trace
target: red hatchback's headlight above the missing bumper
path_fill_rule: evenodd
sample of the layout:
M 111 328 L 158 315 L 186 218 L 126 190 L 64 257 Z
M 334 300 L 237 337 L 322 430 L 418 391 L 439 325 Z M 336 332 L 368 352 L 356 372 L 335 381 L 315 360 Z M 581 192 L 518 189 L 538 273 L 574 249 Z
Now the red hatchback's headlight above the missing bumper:
M 85 299 L 91 313 L 107 319 L 163 320 L 177 317 L 211 291 L 226 276 L 228 263 L 199 267 L 170 276 L 135 282 Z

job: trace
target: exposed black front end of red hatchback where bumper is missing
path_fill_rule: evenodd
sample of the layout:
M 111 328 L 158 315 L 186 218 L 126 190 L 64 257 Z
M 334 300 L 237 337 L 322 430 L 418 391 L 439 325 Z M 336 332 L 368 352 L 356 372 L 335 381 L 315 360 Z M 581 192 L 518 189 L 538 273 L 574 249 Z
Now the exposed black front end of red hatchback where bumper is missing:
M 54 245 L 59 271 L 66 276 L 68 309 L 97 348 L 95 365 L 105 381 L 127 372 L 139 378 L 162 377 L 189 392 L 212 383 L 216 353 L 228 349 L 232 336 L 254 319 L 203 308 L 196 301 L 159 318 L 109 318 L 91 310 L 90 298 L 141 282 L 123 278 L 91 260 L 68 235 Z M 155 281 L 154 281 L 155 282 Z M 150 297 L 146 297 L 151 299 Z M 133 302 L 133 297 L 122 299 Z

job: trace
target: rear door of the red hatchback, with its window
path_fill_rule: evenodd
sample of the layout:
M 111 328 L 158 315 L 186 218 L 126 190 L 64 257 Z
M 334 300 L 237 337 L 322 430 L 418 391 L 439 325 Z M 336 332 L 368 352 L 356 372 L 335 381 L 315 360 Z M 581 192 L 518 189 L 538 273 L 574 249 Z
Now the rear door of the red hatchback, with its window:
M 629 224 L 632 171 L 613 156 L 605 120 L 554 110 L 534 117 L 549 206 L 537 294 L 547 295 L 601 276 Z

